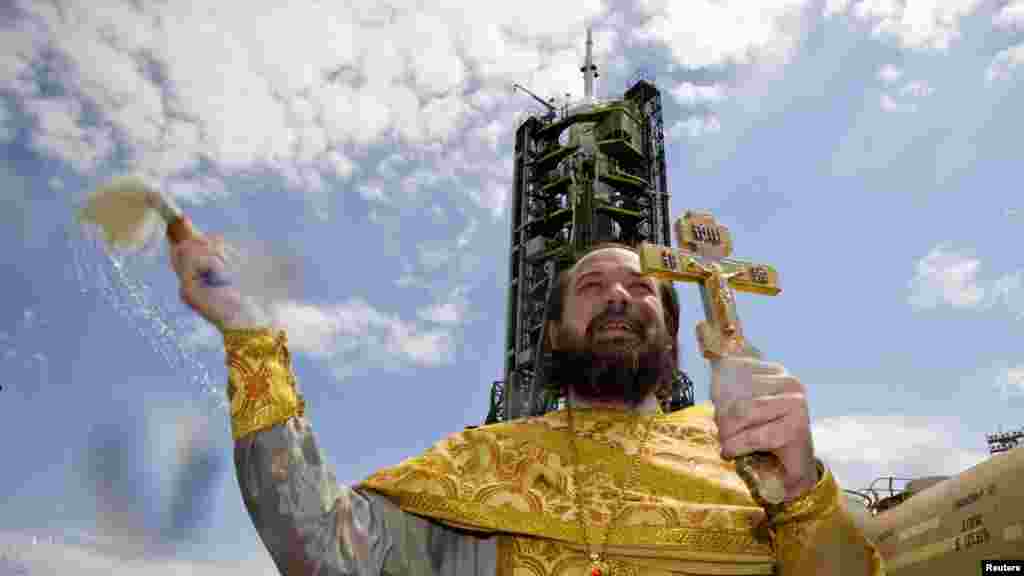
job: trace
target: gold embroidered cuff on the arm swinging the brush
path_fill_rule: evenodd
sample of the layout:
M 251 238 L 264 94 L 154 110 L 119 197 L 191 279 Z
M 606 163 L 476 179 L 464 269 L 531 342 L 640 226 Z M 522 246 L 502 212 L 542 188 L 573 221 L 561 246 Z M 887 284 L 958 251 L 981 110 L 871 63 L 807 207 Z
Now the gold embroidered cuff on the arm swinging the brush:
M 234 440 L 302 416 L 305 403 L 296 389 L 285 332 L 226 329 L 223 335 Z

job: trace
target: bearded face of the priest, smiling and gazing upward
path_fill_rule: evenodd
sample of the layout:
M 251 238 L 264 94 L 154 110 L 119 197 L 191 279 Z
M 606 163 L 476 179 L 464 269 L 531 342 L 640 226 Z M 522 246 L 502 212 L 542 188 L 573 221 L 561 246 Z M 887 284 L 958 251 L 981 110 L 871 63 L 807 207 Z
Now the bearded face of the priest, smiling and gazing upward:
M 630 250 L 598 250 L 577 263 L 552 332 L 553 378 L 584 400 L 636 406 L 674 368 L 657 284 L 640 276 Z

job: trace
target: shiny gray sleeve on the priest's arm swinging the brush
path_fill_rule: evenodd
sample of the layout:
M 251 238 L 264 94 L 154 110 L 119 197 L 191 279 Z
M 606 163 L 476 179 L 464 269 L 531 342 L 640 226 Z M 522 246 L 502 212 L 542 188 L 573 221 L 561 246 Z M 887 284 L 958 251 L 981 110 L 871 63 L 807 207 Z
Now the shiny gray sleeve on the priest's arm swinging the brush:
M 339 486 L 304 417 L 239 439 L 234 466 L 246 509 L 284 575 L 495 574 L 495 538 Z

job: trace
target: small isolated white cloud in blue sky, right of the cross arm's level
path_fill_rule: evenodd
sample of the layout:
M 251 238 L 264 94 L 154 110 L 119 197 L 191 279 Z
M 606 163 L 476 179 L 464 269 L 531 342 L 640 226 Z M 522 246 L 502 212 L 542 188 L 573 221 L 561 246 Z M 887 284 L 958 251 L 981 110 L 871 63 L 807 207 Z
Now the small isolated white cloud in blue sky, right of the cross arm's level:
M 977 258 L 949 251 L 945 245 L 936 246 L 916 263 L 909 284 L 910 305 L 918 310 L 940 303 L 957 308 L 981 305 L 985 290 L 977 281 L 980 265 Z

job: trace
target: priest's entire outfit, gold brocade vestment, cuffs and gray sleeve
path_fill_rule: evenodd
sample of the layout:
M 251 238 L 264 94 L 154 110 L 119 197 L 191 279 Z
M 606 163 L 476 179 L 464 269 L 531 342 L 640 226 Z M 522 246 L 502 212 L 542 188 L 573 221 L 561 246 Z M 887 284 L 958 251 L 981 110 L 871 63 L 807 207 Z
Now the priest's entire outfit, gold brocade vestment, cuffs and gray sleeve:
M 286 334 L 229 330 L 224 345 L 239 486 L 283 574 L 589 576 L 591 551 L 606 552 L 605 576 L 885 574 L 821 462 L 817 485 L 765 523 L 720 457 L 710 405 L 639 423 L 574 410 L 579 466 L 565 411 L 467 429 L 350 489 L 304 415 Z M 624 484 L 623 513 L 606 531 Z

